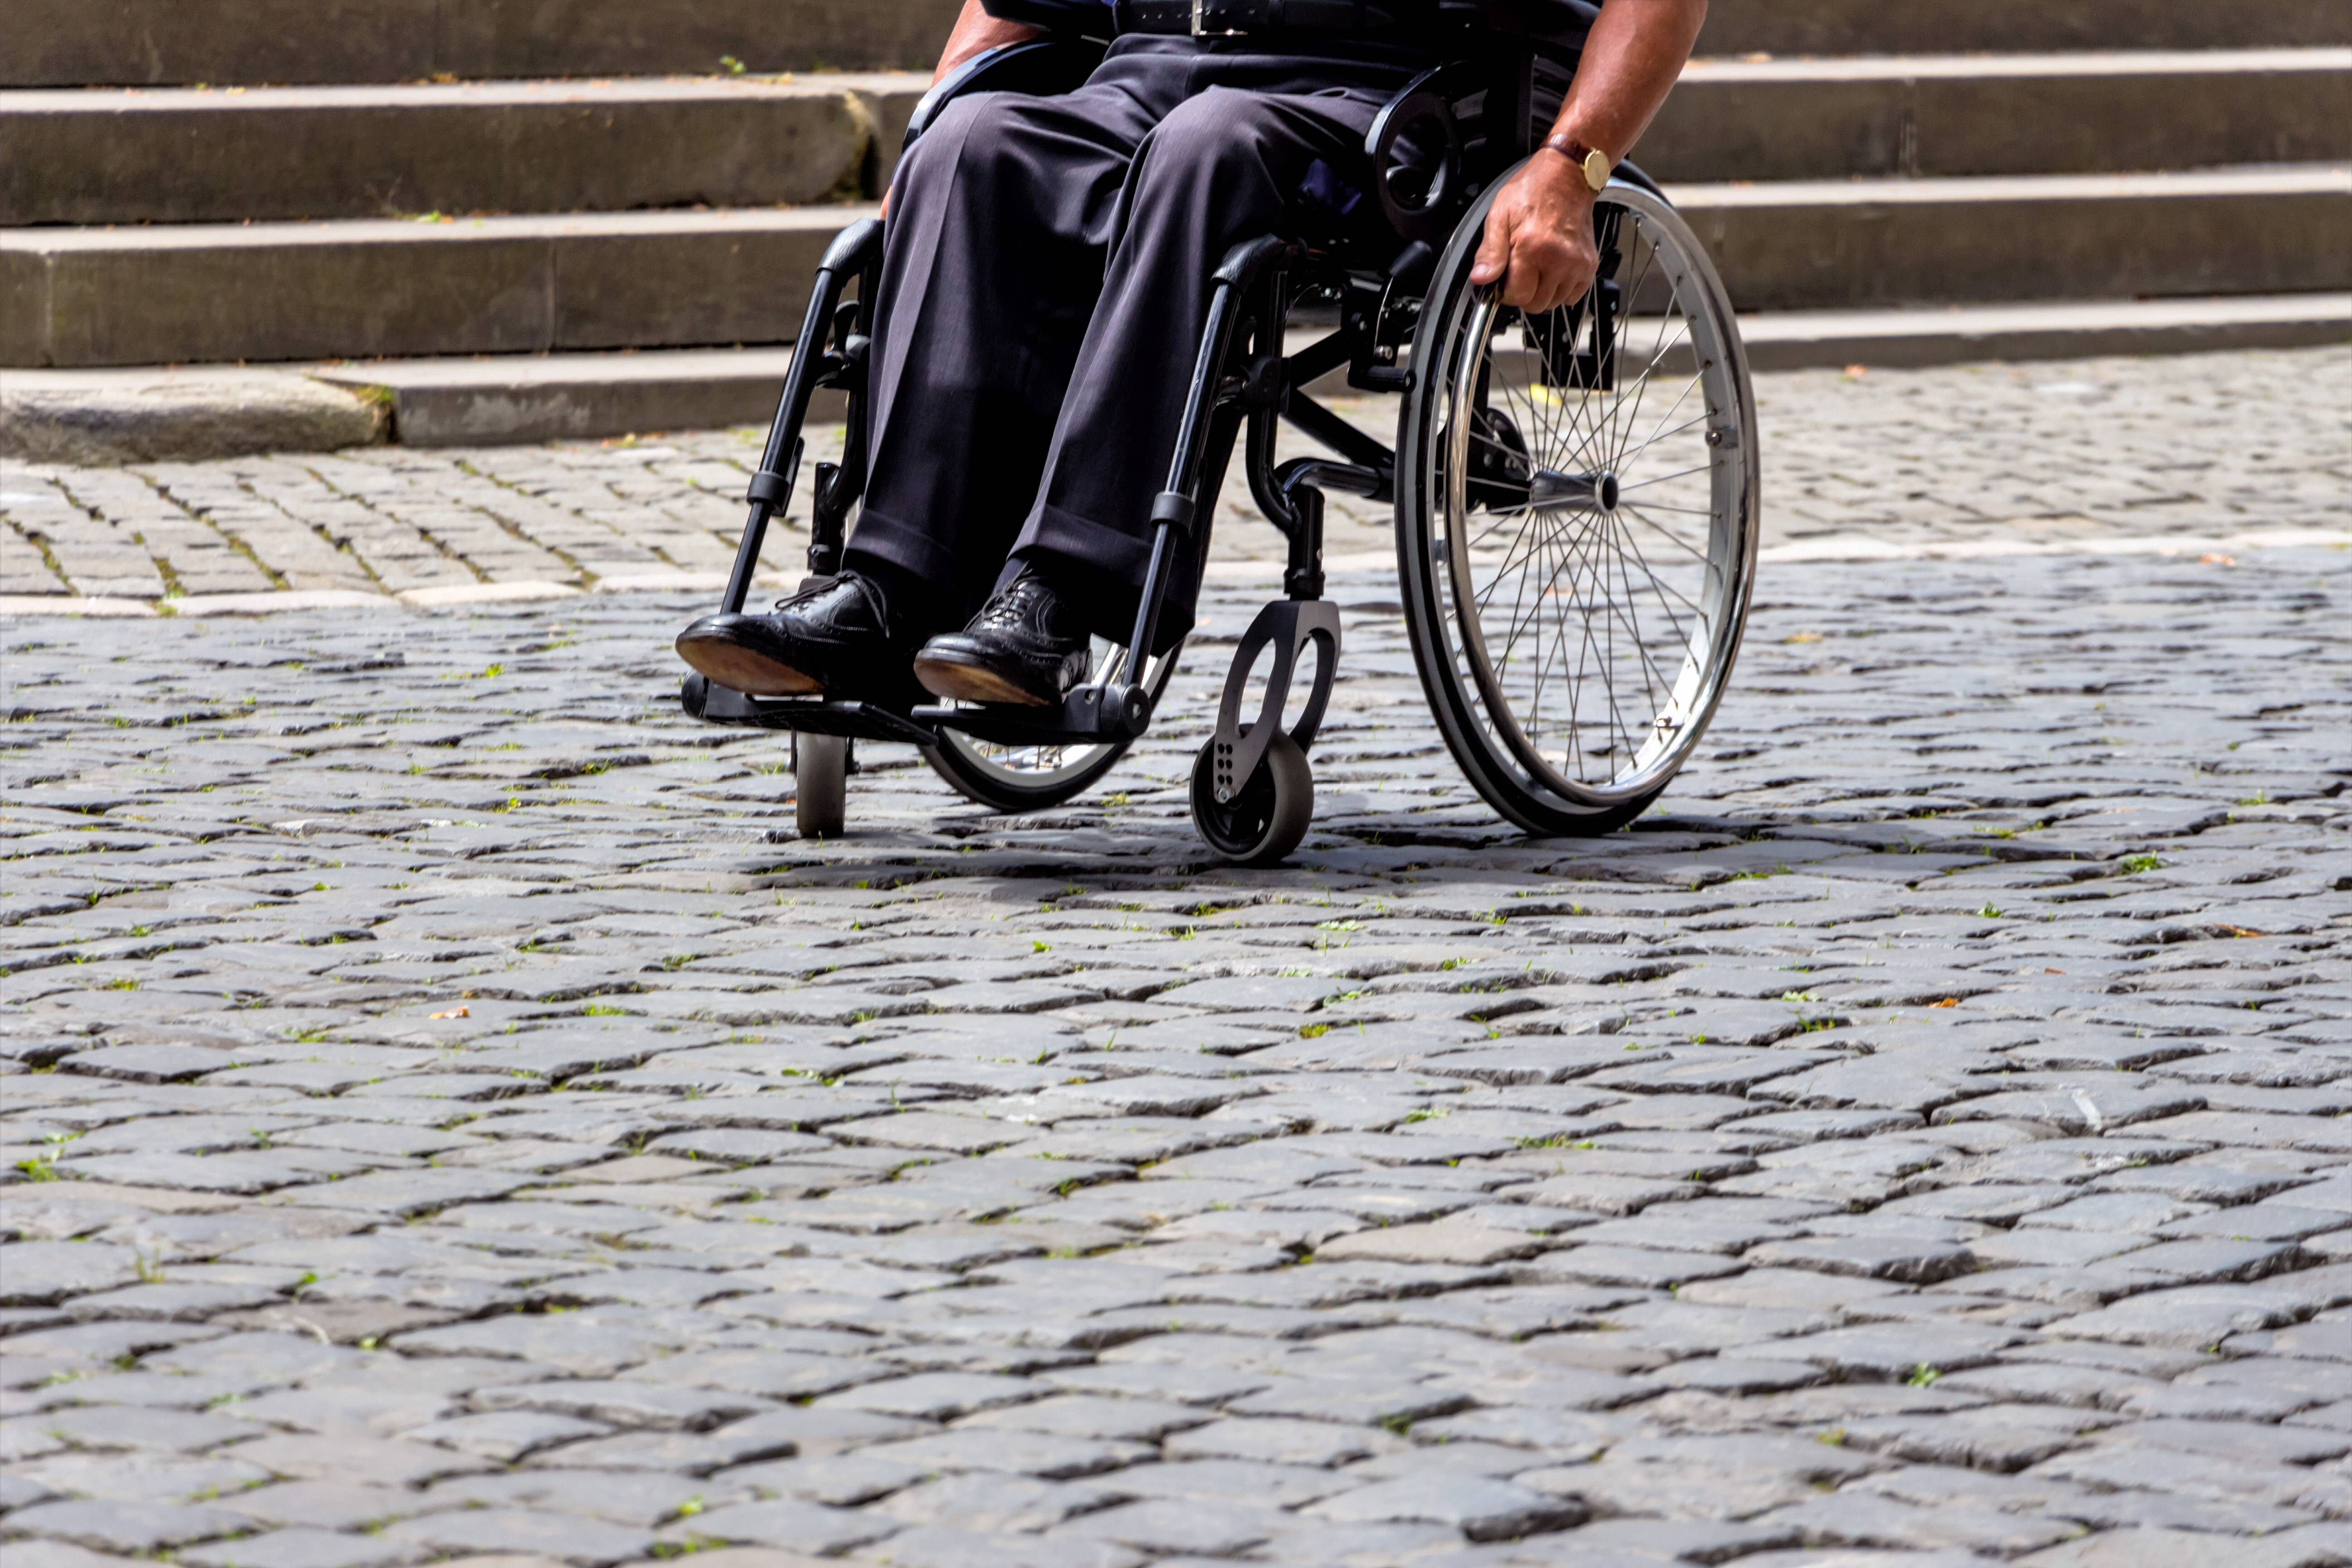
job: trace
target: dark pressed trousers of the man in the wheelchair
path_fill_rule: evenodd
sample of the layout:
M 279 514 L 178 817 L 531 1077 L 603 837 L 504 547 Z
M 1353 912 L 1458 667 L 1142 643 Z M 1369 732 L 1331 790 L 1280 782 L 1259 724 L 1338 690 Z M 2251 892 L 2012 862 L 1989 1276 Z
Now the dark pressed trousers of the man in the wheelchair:
M 1209 273 L 1256 235 L 1385 233 L 1364 134 L 1428 63 L 1265 49 L 1122 38 L 1077 92 L 960 99 L 915 141 L 891 186 L 849 567 L 927 581 L 948 625 L 1009 562 L 1037 562 L 1127 639 Z M 1185 552 L 1169 639 L 1195 578 Z

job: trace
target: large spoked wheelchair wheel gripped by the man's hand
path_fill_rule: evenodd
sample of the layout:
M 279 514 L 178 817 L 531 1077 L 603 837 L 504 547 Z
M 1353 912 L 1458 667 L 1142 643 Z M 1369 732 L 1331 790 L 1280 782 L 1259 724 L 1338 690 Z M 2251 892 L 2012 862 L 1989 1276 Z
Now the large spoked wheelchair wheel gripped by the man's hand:
M 1590 308 L 1529 320 L 1463 287 L 1421 322 L 1444 348 L 1416 451 L 1432 651 L 1477 693 L 1465 738 L 1585 811 L 1656 795 L 1689 757 L 1755 559 L 1752 393 L 1722 284 L 1646 190 L 1613 186 L 1602 216 L 1613 388 L 1592 374 Z

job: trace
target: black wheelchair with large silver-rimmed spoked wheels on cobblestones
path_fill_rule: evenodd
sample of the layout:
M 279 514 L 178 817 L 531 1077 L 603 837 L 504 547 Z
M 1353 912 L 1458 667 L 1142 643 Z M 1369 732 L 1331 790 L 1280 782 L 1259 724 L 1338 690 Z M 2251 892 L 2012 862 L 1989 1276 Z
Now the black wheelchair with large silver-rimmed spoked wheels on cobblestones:
M 1395 244 L 1345 254 L 1268 235 L 1216 263 L 1134 632 L 1124 646 L 1096 639 L 1089 679 L 1058 710 L 755 698 L 687 677 L 691 717 L 793 731 L 804 837 L 842 830 L 858 741 L 920 748 L 997 811 L 1056 806 L 1108 773 L 1176 670 L 1181 642 L 1152 651 L 1167 583 L 1178 550 L 1207 555 L 1235 444 L 1289 557 L 1284 597 L 1242 637 L 1192 766 L 1192 820 L 1221 858 L 1272 865 L 1312 820 L 1308 752 L 1341 651 L 1322 569 L 1329 489 L 1395 505 L 1414 663 L 1494 811 L 1536 835 L 1606 832 L 1689 762 L 1729 684 L 1757 567 L 1757 414 L 1738 322 L 1691 228 L 1630 162 L 1597 202 L 1599 275 L 1581 301 L 1526 315 L 1470 284 L 1496 183 L 1548 132 L 1597 9 L 1444 2 L 1458 49 L 1390 99 L 1367 139 Z M 908 143 L 955 96 L 1068 92 L 1101 56 L 1101 42 L 1054 35 L 964 61 L 922 99 Z M 866 484 L 880 266 L 882 223 L 868 219 L 816 270 L 727 611 L 750 595 L 811 397 L 828 388 L 847 395 L 849 430 L 842 461 L 814 465 L 807 562 L 818 578 L 840 569 Z M 1334 315 L 1289 348 L 1294 322 Z M 1308 397 L 1341 369 L 1350 388 L 1402 395 L 1395 447 Z M 1277 421 L 1329 456 L 1277 463 Z

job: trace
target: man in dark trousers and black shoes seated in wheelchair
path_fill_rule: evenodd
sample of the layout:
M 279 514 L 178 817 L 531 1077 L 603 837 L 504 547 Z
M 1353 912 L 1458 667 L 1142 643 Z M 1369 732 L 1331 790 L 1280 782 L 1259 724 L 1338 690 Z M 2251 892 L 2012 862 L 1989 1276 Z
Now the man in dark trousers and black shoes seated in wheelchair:
M 1463 9 L 1482 7 L 964 0 L 936 80 L 1044 31 L 1112 42 L 1075 92 L 957 96 L 913 141 L 868 301 L 847 458 L 863 512 L 840 569 L 771 614 L 696 621 L 680 656 L 757 698 L 1058 705 L 1091 637 L 1136 621 L 1218 259 L 1261 235 L 1374 266 L 1404 247 L 1367 136 L 1446 59 Z M 1548 134 L 1494 193 L 1472 284 L 1526 317 L 1592 287 L 1595 197 L 1703 14 L 1599 7 Z M 1190 628 L 1197 574 L 1200 550 L 1169 562 L 1155 651 Z

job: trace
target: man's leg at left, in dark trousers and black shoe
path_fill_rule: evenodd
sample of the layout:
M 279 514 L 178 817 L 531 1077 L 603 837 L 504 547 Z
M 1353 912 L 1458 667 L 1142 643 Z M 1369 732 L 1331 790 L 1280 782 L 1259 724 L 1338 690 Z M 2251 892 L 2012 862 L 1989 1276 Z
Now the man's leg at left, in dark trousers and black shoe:
M 891 190 L 870 480 L 844 569 L 774 614 L 696 621 L 677 637 L 687 663 L 757 696 L 922 696 L 915 646 L 988 592 L 1037 494 L 1120 181 L 1152 118 L 1131 92 L 1091 87 L 981 94 L 938 115 Z

